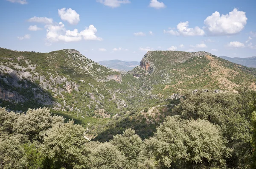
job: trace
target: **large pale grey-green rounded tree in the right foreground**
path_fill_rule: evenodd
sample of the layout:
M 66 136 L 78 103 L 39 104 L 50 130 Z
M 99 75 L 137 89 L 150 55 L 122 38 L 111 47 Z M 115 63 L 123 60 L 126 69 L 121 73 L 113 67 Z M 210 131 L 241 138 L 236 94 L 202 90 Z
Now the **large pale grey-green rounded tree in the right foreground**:
M 162 167 L 225 167 L 228 155 L 218 127 L 205 120 L 183 120 L 169 116 L 157 128 L 154 137 L 145 141 L 149 155 Z

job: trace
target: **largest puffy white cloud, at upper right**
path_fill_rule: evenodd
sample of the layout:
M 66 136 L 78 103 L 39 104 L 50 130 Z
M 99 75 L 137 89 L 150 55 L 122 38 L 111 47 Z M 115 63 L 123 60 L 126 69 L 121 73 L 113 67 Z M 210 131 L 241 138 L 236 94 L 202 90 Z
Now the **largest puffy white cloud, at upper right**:
M 229 14 L 222 14 L 215 11 L 211 16 L 204 20 L 204 29 L 212 36 L 233 35 L 243 30 L 247 23 L 245 12 L 234 8 Z

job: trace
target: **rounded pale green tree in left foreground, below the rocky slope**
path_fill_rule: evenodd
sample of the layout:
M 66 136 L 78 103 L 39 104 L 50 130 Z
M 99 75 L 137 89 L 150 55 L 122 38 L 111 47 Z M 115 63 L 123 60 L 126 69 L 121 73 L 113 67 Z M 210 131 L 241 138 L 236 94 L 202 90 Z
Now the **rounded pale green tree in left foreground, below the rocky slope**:
M 84 132 L 85 129 L 74 121 L 59 122 L 45 132 L 42 153 L 52 162 L 53 168 L 87 168 L 90 151 Z

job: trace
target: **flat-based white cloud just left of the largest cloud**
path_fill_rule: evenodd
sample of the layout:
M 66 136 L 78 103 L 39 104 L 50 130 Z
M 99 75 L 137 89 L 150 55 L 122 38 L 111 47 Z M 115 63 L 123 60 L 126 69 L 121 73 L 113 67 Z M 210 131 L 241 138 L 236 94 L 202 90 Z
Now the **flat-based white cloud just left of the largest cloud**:
M 204 30 L 199 28 L 198 26 L 196 26 L 195 28 L 188 28 L 188 26 L 189 26 L 188 21 L 186 21 L 184 23 L 180 22 L 177 25 L 177 31 L 174 31 L 174 30 L 166 31 L 166 30 L 164 30 L 163 32 L 168 33 L 168 34 L 172 34 L 172 35 L 176 35 L 176 36 L 179 36 L 179 35 L 183 35 L 183 36 L 203 36 L 205 34 Z

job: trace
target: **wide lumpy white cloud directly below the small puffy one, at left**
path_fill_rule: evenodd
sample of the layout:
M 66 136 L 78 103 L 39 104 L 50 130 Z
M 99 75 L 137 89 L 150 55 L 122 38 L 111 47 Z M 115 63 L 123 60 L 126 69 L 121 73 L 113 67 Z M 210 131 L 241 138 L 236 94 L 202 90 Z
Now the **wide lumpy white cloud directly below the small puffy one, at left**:
M 76 42 L 80 41 L 82 37 L 84 40 L 102 40 L 102 38 L 96 36 L 97 29 L 93 25 L 81 32 L 78 29 L 66 30 L 61 22 L 56 25 L 46 25 L 45 28 L 47 29 L 46 39 L 48 42 Z

